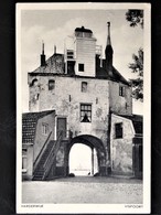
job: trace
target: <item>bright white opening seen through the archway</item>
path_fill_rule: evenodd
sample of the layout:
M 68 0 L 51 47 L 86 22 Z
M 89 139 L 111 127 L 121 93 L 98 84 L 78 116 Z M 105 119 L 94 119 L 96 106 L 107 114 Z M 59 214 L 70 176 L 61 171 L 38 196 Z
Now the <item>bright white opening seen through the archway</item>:
M 93 176 L 98 172 L 98 159 L 95 148 L 75 143 L 69 152 L 69 173 L 75 176 Z

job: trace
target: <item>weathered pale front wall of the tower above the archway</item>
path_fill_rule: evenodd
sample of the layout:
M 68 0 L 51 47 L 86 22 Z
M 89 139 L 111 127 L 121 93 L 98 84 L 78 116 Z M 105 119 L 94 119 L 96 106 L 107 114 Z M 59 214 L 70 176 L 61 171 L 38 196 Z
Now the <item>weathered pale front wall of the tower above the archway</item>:
M 31 77 L 30 82 L 35 77 Z M 109 90 L 108 80 L 96 78 L 37 76 L 39 111 L 54 109 L 57 117 L 66 117 L 67 130 L 73 136 L 93 135 L 107 142 Z M 55 80 L 53 90 L 49 90 L 49 80 Z M 82 92 L 82 82 L 87 82 L 87 92 Z M 30 87 L 30 111 L 37 105 L 32 100 L 37 90 Z M 80 104 L 92 104 L 92 122 L 80 122 Z

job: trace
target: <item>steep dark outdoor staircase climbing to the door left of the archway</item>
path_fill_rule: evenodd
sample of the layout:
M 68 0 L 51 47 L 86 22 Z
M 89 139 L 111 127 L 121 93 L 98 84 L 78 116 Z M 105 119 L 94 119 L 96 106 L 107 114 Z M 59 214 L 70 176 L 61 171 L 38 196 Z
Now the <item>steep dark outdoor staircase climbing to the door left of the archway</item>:
M 45 149 L 45 151 L 44 151 L 44 153 L 43 153 L 43 155 L 42 155 L 37 166 L 34 170 L 34 175 L 33 175 L 33 179 L 32 179 L 33 181 L 42 181 L 43 180 L 44 171 L 45 171 L 44 170 L 44 164 L 45 164 L 45 162 L 46 162 L 46 160 L 49 158 L 49 154 L 50 154 L 52 148 L 55 146 L 55 142 L 56 141 L 54 141 L 54 140 L 51 140 L 49 142 L 49 144 L 47 144 L 47 147 L 46 147 L 46 149 Z

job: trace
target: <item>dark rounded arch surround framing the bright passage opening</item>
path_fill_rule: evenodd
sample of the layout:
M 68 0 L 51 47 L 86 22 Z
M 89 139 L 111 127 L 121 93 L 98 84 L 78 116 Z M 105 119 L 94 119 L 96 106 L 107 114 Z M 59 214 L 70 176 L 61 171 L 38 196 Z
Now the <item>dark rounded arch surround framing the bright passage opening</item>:
M 98 159 L 98 173 L 99 175 L 106 175 L 107 174 L 107 168 L 106 168 L 106 150 L 100 139 L 97 137 L 90 136 L 90 135 L 82 135 L 77 136 L 68 142 L 65 150 L 65 157 L 64 157 L 64 168 L 66 169 L 65 174 L 66 176 L 69 173 L 69 152 L 72 147 L 75 143 L 83 143 L 85 146 L 88 146 L 92 150 L 95 149 L 97 152 L 97 159 Z

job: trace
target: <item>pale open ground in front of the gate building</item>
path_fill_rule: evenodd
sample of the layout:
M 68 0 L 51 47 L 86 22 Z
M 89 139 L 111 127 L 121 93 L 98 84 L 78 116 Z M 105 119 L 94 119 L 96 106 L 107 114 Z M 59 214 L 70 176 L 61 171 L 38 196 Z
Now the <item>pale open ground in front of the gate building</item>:
M 76 176 L 22 186 L 23 203 L 142 203 L 142 181 L 133 179 Z

